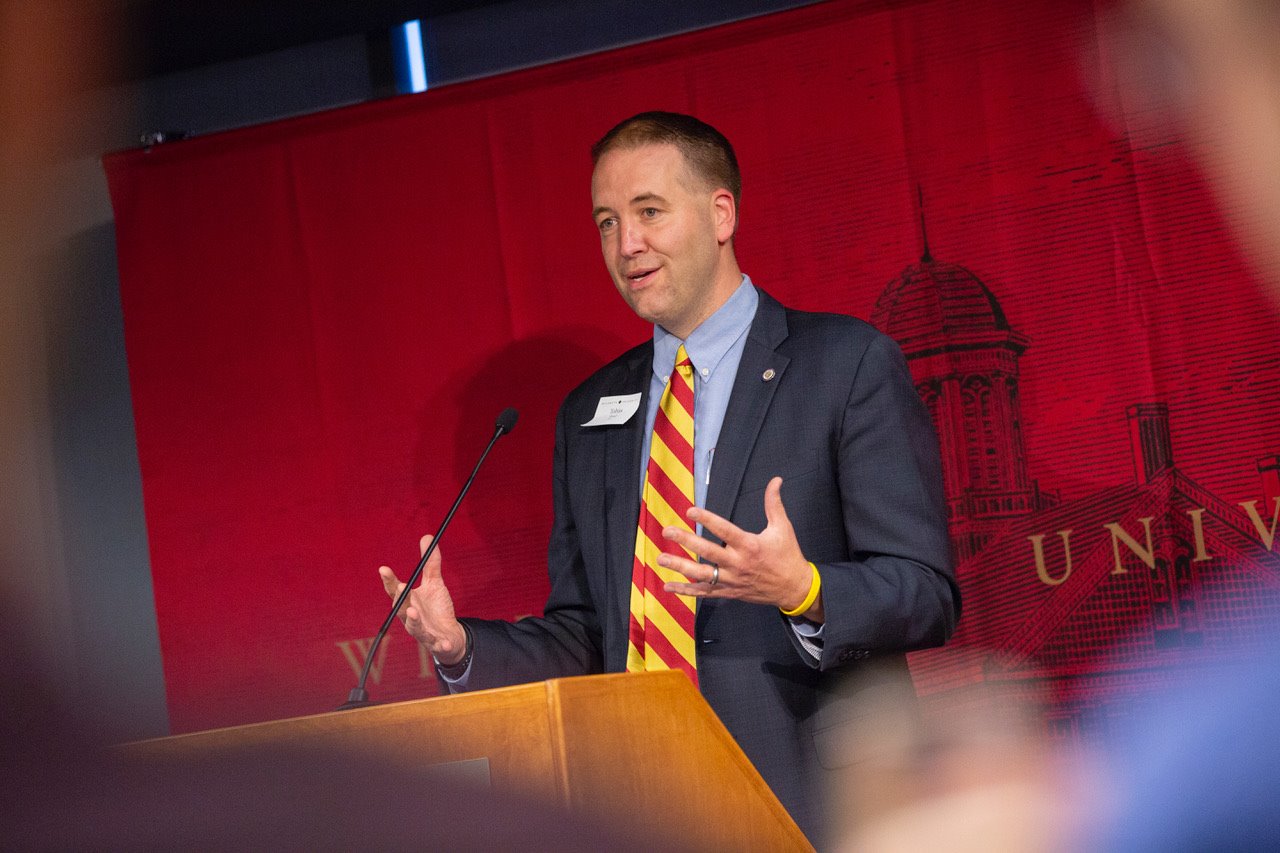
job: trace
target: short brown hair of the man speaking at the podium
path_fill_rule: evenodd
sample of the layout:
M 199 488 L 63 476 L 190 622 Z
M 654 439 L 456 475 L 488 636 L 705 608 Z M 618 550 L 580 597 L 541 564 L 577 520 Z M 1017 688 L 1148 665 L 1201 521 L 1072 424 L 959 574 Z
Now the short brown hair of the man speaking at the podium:
M 613 149 L 660 143 L 675 145 L 696 177 L 717 190 L 732 192 L 735 207 L 741 204 L 742 175 L 737 170 L 733 146 L 723 133 L 692 115 L 662 111 L 632 115 L 616 124 L 591 146 L 591 163 L 599 163 Z

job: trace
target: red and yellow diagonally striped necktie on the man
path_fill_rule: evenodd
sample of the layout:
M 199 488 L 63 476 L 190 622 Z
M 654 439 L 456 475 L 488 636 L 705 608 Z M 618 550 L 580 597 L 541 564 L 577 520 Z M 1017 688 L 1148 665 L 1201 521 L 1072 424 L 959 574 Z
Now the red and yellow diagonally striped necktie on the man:
M 676 369 L 658 402 L 640 501 L 640 525 L 631 570 L 631 630 L 627 670 L 684 670 L 698 685 L 694 651 L 695 599 L 664 592 L 666 581 L 685 581 L 678 571 L 658 565 L 658 555 L 696 560 L 692 553 L 662 538 L 671 525 L 690 529 L 685 514 L 694 505 L 694 365 L 684 345 Z

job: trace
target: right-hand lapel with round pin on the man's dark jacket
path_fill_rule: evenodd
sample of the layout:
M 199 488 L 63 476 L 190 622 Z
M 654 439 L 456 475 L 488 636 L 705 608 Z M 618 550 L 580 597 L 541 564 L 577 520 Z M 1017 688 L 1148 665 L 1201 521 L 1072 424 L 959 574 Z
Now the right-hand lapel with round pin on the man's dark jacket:
M 764 291 L 759 295 L 760 304 L 742 347 L 733 392 L 716 442 L 712 482 L 707 489 L 707 508 L 724 519 L 733 515 L 746 462 L 790 362 L 787 356 L 777 352 L 778 345 L 787 337 L 786 309 Z

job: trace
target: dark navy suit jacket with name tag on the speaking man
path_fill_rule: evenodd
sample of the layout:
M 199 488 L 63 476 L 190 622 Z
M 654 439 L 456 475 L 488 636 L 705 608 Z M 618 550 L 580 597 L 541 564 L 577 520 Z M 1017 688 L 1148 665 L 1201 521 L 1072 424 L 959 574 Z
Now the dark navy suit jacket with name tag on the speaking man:
M 463 620 L 474 640 L 467 689 L 626 669 L 652 361 L 650 341 L 602 368 L 561 407 L 545 615 Z M 641 403 L 628 423 L 580 425 L 600 397 L 636 392 Z M 698 610 L 698 678 L 817 841 L 823 768 L 840 758 L 824 749 L 836 740 L 824 730 L 847 716 L 840 676 L 878 660 L 908 679 L 902 652 L 947 639 L 959 593 L 937 439 L 897 345 L 860 320 L 792 311 L 760 292 L 707 508 L 759 532 L 774 475 L 783 478 L 800 547 L 822 573 L 822 657 L 801 649 L 776 607 L 708 599 Z

